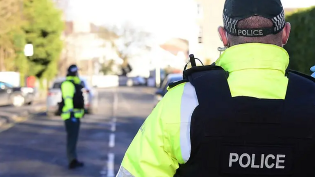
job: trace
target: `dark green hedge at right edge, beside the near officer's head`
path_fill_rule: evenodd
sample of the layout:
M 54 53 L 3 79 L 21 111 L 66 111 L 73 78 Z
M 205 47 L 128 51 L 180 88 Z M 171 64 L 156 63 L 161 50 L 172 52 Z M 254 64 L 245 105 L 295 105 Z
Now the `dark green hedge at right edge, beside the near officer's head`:
M 289 69 L 310 74 L 315 65 L 315 7 L 286 15 L 291 23 L 291 33 L 285 49 L 290 55 Z

